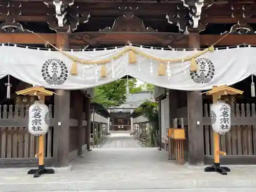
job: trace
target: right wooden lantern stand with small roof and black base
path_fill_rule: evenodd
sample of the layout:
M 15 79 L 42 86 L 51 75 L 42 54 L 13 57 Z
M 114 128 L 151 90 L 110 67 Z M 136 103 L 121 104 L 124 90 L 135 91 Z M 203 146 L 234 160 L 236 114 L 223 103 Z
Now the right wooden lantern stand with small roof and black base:
M 237 95 L 243 94 L 243 91 L 224 86 L 214 86 L 212 90 L 205 92 L 206 95 L 212 95 L 212 103 L 218 102 L 222 95 Z M 204 168 L 204 172 L 218 172 L 221 175 L 227 175 L 230 169 L 225 166 L 220 166 L 220 155 L 226 155 L 225 152 L 220 151 L 220 135 L 214 131 L 214 165 Z

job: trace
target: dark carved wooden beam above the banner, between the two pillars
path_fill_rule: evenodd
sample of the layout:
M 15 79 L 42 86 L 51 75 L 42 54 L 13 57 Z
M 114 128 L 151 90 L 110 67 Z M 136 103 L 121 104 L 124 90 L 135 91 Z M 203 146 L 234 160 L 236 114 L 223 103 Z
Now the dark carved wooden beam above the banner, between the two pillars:
M 89 45 L 94 47 L 108 47 L 132 44 L 160 46 L 160 47 L 186 47 L 187 36 L 179 33 L 159 32 L 79 32 L 70 34 L 71 45 Z

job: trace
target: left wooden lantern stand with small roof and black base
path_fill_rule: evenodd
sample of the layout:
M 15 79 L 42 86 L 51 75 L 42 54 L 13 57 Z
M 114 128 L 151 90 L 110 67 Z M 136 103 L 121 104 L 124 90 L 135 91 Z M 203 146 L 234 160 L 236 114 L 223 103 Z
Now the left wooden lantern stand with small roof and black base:
M 54 92 L 45 90 L 43 87 L 32 87 L 22 91 L 16 92 L 17 95 L 30 95 L 37 96 L 40 101 L 45 102 L 45 96 L 52 96 Z M 28 175 L 34 175 L 34 177 L 40 177 L 42 174 L 54 174 L 54 169 L 46 168 L 44 163 L 44 135 L 39 137 L 39 147 L 38 153 L 35 154 L 35 157 L 38 157 L 38 168 L 30 169 Z

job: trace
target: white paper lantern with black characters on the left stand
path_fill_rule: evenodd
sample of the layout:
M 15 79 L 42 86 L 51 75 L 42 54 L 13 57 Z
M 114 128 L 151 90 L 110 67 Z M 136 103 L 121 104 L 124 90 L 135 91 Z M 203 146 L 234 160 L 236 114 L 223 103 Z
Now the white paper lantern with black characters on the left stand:
M 34 136 L 45 135 L 49 129 L 49 108 L 46 104 L 35 101 L 29 108 L 29 133 Z

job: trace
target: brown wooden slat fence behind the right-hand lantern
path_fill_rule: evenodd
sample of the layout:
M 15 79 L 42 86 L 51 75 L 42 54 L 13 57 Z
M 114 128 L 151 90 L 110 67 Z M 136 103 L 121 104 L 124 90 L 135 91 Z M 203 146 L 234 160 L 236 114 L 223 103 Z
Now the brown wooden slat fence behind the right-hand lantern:
M 205 155 L 213 155 L 210 105 L 204 104 Z M 255 104 L 231 104 L 231 130 L 220 137 L 220 148 L 227 155 L 256 155 Z

